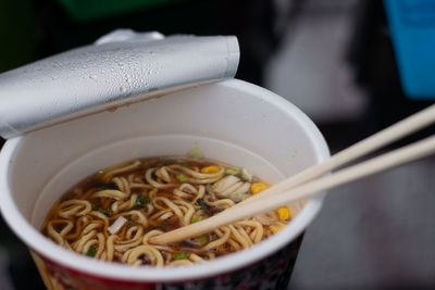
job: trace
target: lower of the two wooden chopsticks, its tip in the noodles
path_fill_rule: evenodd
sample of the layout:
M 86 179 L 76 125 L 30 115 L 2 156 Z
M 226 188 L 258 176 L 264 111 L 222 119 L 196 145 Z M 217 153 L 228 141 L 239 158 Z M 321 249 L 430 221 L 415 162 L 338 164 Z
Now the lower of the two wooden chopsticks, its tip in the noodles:
M 258 199 L 249 204 L 238 207 L 237 211 L 226 210 L 199 223 L 190 224 L 188 226 L 151 237 L 148 241 L 151 243 L 166 244 L 197 237 L 215 228 L 247 217 L 256 216 L 261 213 L 273 211 L 296 200 L 310 198 L 318 192 L 351 182 L 356 179 L 386 171 L 388 168 L 427 156 L 433 153 L 435 153 L 435 136 L 353 165 L 318 180 L 307 182 L 274 198 Z

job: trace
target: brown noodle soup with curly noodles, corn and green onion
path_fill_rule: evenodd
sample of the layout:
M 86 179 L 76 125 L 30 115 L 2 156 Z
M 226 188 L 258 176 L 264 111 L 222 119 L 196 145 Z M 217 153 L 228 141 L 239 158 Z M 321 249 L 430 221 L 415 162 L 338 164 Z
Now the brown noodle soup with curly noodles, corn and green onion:
M 135 266 L 175 266 L 249 248 L 281 230 L 288 207 L 172 244 L 152 236 L 219 214 L 269 184 L 210 160 L 139 159 L 102 169 L 69 190 L 49 212 L 42 234 L 94 259 Z

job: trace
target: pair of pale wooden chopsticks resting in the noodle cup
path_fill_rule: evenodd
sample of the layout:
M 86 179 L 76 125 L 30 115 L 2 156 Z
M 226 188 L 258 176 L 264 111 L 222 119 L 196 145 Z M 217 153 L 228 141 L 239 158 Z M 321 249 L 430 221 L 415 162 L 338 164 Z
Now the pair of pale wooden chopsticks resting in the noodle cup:
M 333 169 L 366 155 L 435 122 L 435 104 L 413 114 L 390 127 L 336 153 L 327 161 L 309 167 L 273 187 L 246 199 L 199 223 L 151 237 L 150 243 L 165 244 L 210 232 L 237 220 L 266 213 L 294 201 L 319 194 L 340 185 L 373 175 L 401 164 L 435 153 L 435 136 L 427 137 L 389 153 L 352 165 L 313 180 Z

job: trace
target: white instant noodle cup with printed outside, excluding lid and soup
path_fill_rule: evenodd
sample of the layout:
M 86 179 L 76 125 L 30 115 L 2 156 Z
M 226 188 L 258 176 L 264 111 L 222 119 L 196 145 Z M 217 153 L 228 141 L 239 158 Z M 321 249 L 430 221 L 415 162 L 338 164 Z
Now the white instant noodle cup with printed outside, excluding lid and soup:
M 88 115 L 9 139 L 0 154 L 0 206 L 27 244 L 48 289 L 283 289 L 303 231 L 323 196 L 289 205 L 293 219 L 247 250 L 200 264 L 151 267 L 108 263 L 69 251 L 40 232 L 66 190 L 110 165 L 186 155 L 249 168 L 268 182 L 328 157 L 314 124 L 283 98 L 225 80 Z M 284 214 L 284 213 L 283 213 Z

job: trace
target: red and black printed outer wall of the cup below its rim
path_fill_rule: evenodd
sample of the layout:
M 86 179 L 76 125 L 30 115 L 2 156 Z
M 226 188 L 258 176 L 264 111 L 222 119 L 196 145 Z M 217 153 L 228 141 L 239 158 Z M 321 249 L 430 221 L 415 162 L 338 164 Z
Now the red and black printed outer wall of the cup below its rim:
M 101 288 L 108 290 L 286 289 L 295 266 L 302 236 L 303 235 L 300 235 L 295 241 L 287 244 L 273 255 L 241 269 L 196 281 L 177 281 L 167 283 L 161 283 L 158 281 L 122 281 L 97 277 L 65 268 L 62 265 L 42 257 L 34 251 L 30 251 L 30 253 L 48 290 Z

